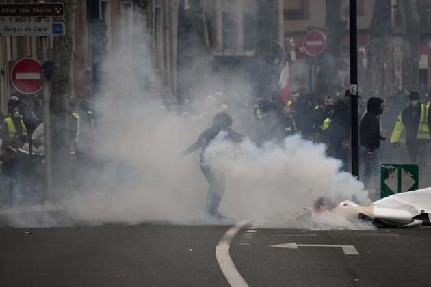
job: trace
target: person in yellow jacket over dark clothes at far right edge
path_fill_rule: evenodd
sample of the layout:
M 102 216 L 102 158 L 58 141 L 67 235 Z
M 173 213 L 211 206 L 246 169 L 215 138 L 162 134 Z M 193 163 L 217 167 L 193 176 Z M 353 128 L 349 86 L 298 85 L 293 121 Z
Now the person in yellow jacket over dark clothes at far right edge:
M 426 144 L 430 141 L 430 105 L 421 104 L 419 92 L 415 90 L 410 92 L 408 100 L 410 105 L 398 115 L 391 143 L 395 149 L 400 147 L 400 143 L 406 143 L 408 161 L 419 166 L 420 176 L 423 167 L 426 167 Z

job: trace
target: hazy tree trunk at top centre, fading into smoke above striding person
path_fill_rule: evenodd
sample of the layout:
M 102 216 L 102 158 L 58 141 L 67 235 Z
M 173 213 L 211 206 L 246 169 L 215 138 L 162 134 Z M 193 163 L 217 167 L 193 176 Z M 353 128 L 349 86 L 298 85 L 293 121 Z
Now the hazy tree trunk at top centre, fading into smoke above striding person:
M 209 37 L 207 29 L 207 21 L 205 20 L 205 12 L 203 9 L 203 0 L 189 0 L 190 12 L 192 16 L 192 35 L 190 40 L 192 44 L 192 80 L 194 82 L 194 90 L 196 94 L 208 93 L 208 87 L 211 81 L 211 66 L 213 56 L 209 46 Z

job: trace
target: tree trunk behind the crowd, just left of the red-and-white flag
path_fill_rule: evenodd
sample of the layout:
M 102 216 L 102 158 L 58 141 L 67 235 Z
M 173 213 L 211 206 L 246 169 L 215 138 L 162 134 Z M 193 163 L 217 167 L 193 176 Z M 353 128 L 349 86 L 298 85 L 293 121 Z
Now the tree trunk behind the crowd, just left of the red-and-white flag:
M 257 0 L 256 48 L 254 55 L 254 97 L 270 99 L 272 40 L 278 23 L 276 0 Z

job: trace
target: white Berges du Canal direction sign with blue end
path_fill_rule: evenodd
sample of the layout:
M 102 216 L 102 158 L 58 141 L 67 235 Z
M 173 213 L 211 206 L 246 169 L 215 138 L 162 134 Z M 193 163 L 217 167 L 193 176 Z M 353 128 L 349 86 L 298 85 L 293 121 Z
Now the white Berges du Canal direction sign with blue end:
M 0 36 L 62 36 L 65 33 L 62 22 L 0 23 Z

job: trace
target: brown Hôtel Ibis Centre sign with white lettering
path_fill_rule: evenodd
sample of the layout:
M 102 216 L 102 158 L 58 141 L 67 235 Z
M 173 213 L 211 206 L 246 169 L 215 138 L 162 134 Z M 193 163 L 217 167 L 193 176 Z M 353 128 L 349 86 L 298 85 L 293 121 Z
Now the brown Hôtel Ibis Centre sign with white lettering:
M 63 3 L 0 4 L 1 17 L 64 16 Z

